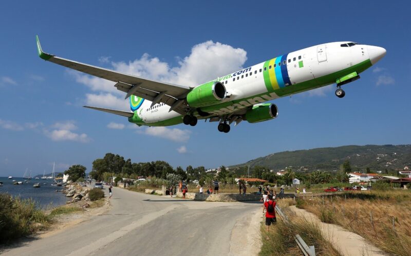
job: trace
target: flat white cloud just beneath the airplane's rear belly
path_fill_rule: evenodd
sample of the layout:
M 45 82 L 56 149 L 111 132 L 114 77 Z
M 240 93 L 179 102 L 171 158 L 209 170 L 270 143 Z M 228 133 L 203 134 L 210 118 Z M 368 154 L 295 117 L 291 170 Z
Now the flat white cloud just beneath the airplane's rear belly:
M 145 130 L 137 131 L 139 134 L 160 137 L 176 142 L 186 142 L 190 139 L 191 131 L 167 127 L 147 127 Z

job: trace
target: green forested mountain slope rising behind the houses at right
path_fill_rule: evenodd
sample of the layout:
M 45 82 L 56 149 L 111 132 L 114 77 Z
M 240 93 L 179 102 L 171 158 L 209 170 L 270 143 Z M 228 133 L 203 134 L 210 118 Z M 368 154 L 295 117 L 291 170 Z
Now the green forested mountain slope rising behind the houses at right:
M 411 167 L 411 145 L 349 145 L 285 151 L 229 167 L 250 165 L 251 169 L 263 165 L 278 171 L 292 166 L 294 171 L 312 172 L 317 169 L 338 170 L 347 159 L 353 171 L 365 171 L 367 167 L 371 172 L 403 169 L 404 166 Z

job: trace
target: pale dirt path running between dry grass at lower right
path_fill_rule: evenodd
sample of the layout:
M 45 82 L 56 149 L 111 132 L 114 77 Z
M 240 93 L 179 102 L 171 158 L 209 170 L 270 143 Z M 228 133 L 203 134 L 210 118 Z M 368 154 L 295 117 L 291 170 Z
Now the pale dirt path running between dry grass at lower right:
M 290 206 L 290 209 L 298 216 L 317 223 L 321 227 L 325 238 L 328 239 L 336 249 L 340 250 L 343 255 L 388 255 L 368 243 L 363 237 L 347 231 L 339 225 L 321 222 L 321 220 L 311 212 L 298 209 L 295 206 Z

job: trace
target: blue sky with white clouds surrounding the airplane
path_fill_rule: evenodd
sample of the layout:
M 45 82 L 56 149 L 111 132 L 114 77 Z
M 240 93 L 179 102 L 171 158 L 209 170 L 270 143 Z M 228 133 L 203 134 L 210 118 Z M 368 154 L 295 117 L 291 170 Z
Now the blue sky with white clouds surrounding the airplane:
M 148 3 L 150 2 L 150 3 Z M 1 1 L 0 176 L 91 170 L 111 152 L 133 162 L 232 165 L 275 152 L 409 144 L 410 4 L 406 1 Z M 109 82 L 68 70 L 45 52 L 90 65 L 196 85 L 241 67 L 331 41 L 384 47 L 386 56 L 343 86 L 273 100 L 276 119 L 140 127 L 83 105 L 128 110 Z

